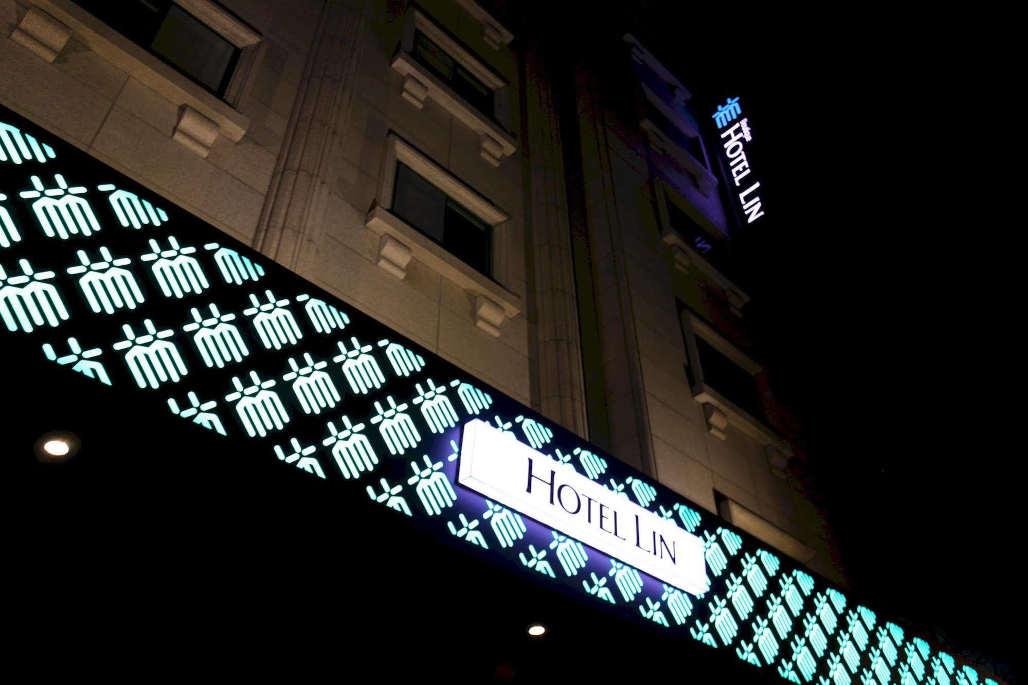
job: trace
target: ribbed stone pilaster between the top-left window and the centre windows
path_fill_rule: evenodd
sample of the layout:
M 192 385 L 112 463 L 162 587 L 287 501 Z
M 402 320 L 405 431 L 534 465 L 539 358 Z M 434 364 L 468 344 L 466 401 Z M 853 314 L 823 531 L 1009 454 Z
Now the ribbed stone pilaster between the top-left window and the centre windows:
M 305 275 L 325 222 L 368 33 L 369 0 L 326 0 L 254 247 Z

